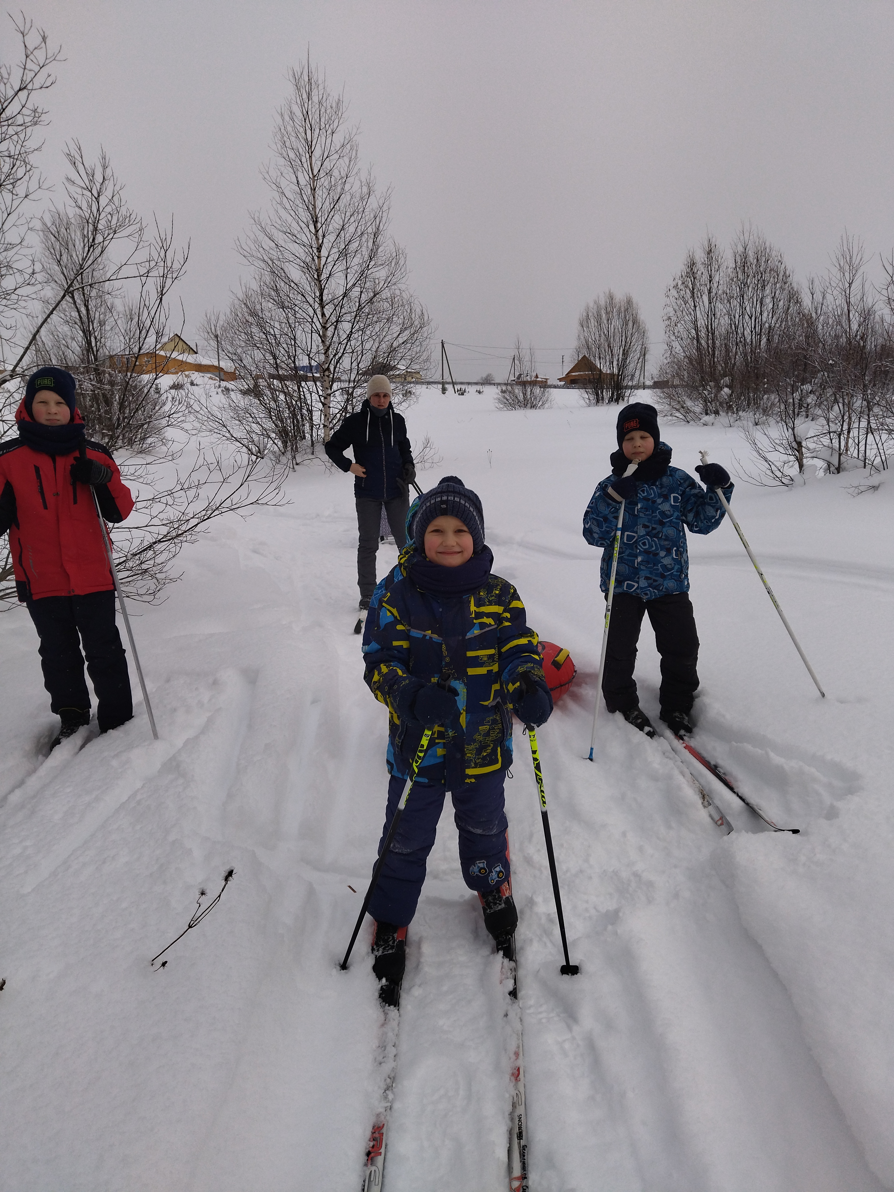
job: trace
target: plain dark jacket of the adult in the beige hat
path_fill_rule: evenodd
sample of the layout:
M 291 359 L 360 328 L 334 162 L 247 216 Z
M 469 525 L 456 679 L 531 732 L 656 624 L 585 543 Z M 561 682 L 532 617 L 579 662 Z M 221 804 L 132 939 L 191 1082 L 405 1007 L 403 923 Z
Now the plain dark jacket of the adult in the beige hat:
M 342 472 L 350 471 L 347 447 L 354 452 L 354 462 L 366 468 L 366 476 L 354 477 L 355 497 L 395 501 L 406 492 L 403 474 L 408 464 L 412 466 L 412 447 L 406 423 L 391 402 L 377 415 L 367 399 L 329 439 L 325 453 Z

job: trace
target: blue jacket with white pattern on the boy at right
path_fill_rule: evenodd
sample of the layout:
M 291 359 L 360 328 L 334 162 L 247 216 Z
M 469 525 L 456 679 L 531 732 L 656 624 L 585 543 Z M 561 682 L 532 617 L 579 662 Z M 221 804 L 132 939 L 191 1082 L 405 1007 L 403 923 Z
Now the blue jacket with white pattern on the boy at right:
M 620 458 L 619 458 L 620 457 Z M 689 591 L 689 555 L 685 530 L 710 534 L 724 520 L 724 507 L 713 489 L 706 490 L 679 467 L 670 466 L 671 449 L 659 443 L 640 465 L 635 499 L 625 502 L 617 552 L 615 591 L 642 600 Z M 608 591 L 620 505 L 608 495 L 611 482 L 623 474 L 622 453 L 611 457 L 615 471 L 592 495 L 584 514 L 584 538 L 603 547 L 600 586 Z M 733 485 L 722 490 L 728 501 Z

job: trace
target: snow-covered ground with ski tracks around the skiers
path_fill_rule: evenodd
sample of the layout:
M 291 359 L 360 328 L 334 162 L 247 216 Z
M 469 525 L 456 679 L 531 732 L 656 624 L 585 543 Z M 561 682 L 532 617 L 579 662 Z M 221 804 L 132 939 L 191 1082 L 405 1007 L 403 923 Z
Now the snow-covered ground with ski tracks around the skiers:
M 616 410 L 532 414 L 426 392 L 417 442 L 484 502 L 496 570 L 578 677 L 540 735 L 573 979 L 561 961 L 527 739 L 508 783 L 534 1192 L 894 1188 L 890 715 L 894 486 L 739 483 L 733 504 L 822 679 L 820 700 L 730 524 L 690 535 L 695 743 L 800 836 L 601 718 L 597 552 L 581 535 Z M 663 424 L 673 461 L 734 464 L 735 430 Z M 343 952 L 374 858 L 385 712 L 362 683 L 350 482 L 216 523 L 164 604 L 135 608 L 142 704 L 44 762 L 24 609 L 0 616 L 0 1188 L 359 1187 L 375 987 Z M 395 559 L 380 551 L 379 575 Z M 638 666 L 657 714 L 658 659 Z M 136 690 L 136 682 L 135 682 Z M 153 971 L 199 888 L 219 905 Z M 358 893 L 353 893 L 350 887 Z M 498 964 L 445 814 L 410 932 L 387 1192 L 505 1187 Z

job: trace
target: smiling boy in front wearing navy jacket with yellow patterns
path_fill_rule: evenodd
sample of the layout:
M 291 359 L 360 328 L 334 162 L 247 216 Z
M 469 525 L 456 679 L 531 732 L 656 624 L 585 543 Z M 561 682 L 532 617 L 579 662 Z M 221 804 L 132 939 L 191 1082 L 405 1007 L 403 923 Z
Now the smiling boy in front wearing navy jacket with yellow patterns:
M 552 712 L 538 637 L 519 592 L 491 572 L 478 496 L 455 476 L 414 502 L 408 545 L 375 589 L 364 632 L 366 683 L 389 709 L 384 844 L 426 728 L 434 728 L 370 904 L 373 970 L 399 985 L 406 925 L 426 880 L 446 793 L 453 797 L 462 879 L 509 952 L 511 896 L 503 784 L 514 710 L 541 725 Z

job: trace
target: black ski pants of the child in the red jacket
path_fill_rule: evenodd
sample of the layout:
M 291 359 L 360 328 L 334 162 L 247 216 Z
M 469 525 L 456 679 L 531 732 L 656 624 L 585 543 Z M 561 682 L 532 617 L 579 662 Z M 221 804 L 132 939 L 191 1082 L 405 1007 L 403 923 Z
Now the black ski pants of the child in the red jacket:
M 134 715 L 130 676 L 124 646 L 114 623 L 114 592 L 86 596 L 44 596 L 27 601 L 27 610 L 41 638 L 43 683 L 50 693 L 50 710 L 88 712 L 87 673 L 97 693 L 100 732 L 117 728 Z M 83 646 L 83 654 L 81 653 Z

